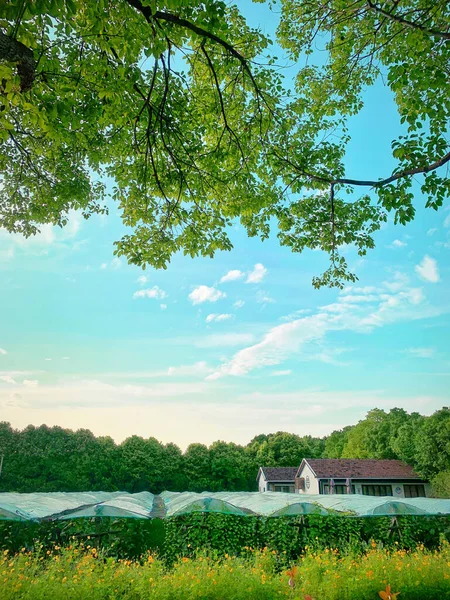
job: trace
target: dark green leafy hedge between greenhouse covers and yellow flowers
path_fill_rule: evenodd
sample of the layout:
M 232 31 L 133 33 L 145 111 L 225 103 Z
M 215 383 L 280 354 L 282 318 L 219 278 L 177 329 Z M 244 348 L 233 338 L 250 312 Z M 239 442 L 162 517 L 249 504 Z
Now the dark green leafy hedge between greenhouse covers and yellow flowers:
M 373 544 L 405 550 L 422 544 L 436 549 L 450 541 L 450 517 L 346 516 L 236 517 L 191 513 L 168 520 L 75 519 L 41 523 L 0 522 L 0 551 L 22 548 L 46 554 L 55 544 L 95 545 L 105 556 L 138 559 L 148 550 L 168 565 L 180 556 L 208 550 L 218 556 L 245 556 L 248 548 L 269 548 L 289 563 L 308 549 L 326 547 L 361 554 Z

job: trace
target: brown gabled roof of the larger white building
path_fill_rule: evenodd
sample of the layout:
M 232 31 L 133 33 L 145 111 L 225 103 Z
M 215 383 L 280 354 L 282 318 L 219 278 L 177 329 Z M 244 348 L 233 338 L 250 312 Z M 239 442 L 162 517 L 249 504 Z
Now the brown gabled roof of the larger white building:
M 376 460 L 372 458 L 304 458 L 297 477 L 308 464 L 318 479 L 418 479 L 414 469 L 401 460 Z

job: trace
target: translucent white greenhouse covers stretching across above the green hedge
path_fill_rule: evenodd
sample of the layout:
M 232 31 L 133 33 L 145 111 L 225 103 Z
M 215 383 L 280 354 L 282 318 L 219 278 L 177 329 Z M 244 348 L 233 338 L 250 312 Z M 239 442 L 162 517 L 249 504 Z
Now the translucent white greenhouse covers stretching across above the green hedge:
M 0 520 L 53 521 L 81 517 L 169 518 L 192 512 L 238 516 L 450 515 L 450 499 L 303 495 L 279 492 L 0 493 Z

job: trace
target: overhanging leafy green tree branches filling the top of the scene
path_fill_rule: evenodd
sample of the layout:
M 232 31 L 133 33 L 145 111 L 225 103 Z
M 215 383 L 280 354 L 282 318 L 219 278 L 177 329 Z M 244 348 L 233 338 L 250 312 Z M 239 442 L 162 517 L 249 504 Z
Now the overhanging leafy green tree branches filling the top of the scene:
M 273 40 L 222 0 L 2 2 L 0 226 L 31 235 L 70 209 L 102 212 L 111 196 L 131 228 L 116 247 L 130 263 L 213 256 L 239 219 L 251 236 L 275 226 L 293 251 L 328 252 L 315 285 L 354 281 L 339 248 L 364 255 L 387 212 L 413 219 L 414 178 L 428 207 L 449 195 L 449 4 L 280 4 L 294 91 L 263 56 Z M 376 81 L 404 133 L 394 172 L 366 181 L 345 173 L 347 120 Z

